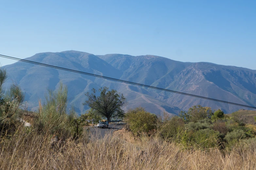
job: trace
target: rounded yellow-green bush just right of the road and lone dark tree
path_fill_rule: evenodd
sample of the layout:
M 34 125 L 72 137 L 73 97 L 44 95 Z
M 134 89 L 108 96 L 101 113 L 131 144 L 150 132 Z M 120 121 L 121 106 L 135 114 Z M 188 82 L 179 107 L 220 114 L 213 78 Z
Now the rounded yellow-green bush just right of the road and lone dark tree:
M 129 109 L 125 114 L 124 120 L 133 134 L 139 135 L 155 129 L 158 119 L 155 114 L 147 112 L 145 108 L 137 107 L 135 109 Z

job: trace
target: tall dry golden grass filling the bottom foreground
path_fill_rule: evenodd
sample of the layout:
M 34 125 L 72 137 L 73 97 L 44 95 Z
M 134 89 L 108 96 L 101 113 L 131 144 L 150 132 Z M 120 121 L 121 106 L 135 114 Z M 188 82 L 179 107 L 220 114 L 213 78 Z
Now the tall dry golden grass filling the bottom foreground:
M 1 138 L 0 169 L 256 169 L 256 147 L 184 150 L 157 137 L 129 140 L 125 131 L 99 139 L 85 134 L 51 148 L 51 135 L 20 127 L 9 139 Z

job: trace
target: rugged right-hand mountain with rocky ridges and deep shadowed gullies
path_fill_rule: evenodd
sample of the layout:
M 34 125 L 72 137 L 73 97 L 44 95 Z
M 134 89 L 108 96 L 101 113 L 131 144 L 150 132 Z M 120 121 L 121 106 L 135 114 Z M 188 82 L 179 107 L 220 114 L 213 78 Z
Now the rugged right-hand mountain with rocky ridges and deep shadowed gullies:
M 122 69 L 124 75 L 129 75 L 131 79 L 137 78 L 136 82 L 233 103 L 256 106 L 256 70 L 205 62 L 182 63 L 150 55 L 107 54 L 99 57 L 116 69 Z M 150 72 L 150 69 L 157 69 L 155 73 L 158 73 L 158 76 Z M 145 72 L 145 74 L 136 77 L 141 72 Z M 121 78 L 129 78 L 124 75 Z M 152 81 L 145 81 L 147 79 Z M 148 89 L 148 91 L 156 92 L 158 94 L 157 99 L 184 110 L 194 105 L 210 106 L 213 109 L 220 108 L 226 113 L 231 113 L 241 108 L 176 93 L 152 89 Z

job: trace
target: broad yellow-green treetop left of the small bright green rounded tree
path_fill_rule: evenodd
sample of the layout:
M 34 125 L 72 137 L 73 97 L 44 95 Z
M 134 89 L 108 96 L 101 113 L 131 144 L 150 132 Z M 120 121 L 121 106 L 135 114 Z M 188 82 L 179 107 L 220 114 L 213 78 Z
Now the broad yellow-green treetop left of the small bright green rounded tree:
M 189 108 L 187 112 L 181 111 L 179 113 L 179 116 L 185 122 L 197 122 L 198 120 L 202 120 L 205 118 L 210 119 L 212 115 L 213 111 L 211 107 L 202 107 L 200 105 Z

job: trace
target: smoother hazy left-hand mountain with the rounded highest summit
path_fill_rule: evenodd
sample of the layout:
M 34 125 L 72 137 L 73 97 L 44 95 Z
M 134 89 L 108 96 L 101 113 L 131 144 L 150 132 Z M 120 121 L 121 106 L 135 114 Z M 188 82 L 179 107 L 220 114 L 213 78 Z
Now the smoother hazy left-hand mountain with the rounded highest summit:
M 97 56 L 79 51 L 39 53 L 27 58 L 27 60 L 118 79 L 123 75 L 122 71 Z M 143 94 L 147 100 L 140 99 L 141 94 L 139 92 L 130 90 L 134 88 L 133 86 L 127 86 L 123 83 L 24 62 L 10 64 L 5 68 L 9 74 L 9 80 L 5 83 L 5 86 L 8 87 L 15 80 L 26 92 L 25 100 L 28 101 L 28 106 L 31 109 L 37 109 L 38 100 L 44 99 L 47 89 L 55 90 L 58 88 L 60 81 L 68 86 L 69 107 L 70 105 L 75 106 L 76 111 L 79 113 L 88 109 L 87 106 L 82 105 L 87 99 L 84 94 L 90 92 L 92 88 L 98 90 L 103 86 L 124 93 L 128 102 L 131 101 L 126 109 L 133 108 L 133 106 L 147 106 L 148 100 L 156 103 L 156 105 L 148 107 L 149 111 L 156 114 L 160 115 L 165 111 L 162 106 L 169 108 L 166 103 L 148 95 L 148 92 Z

